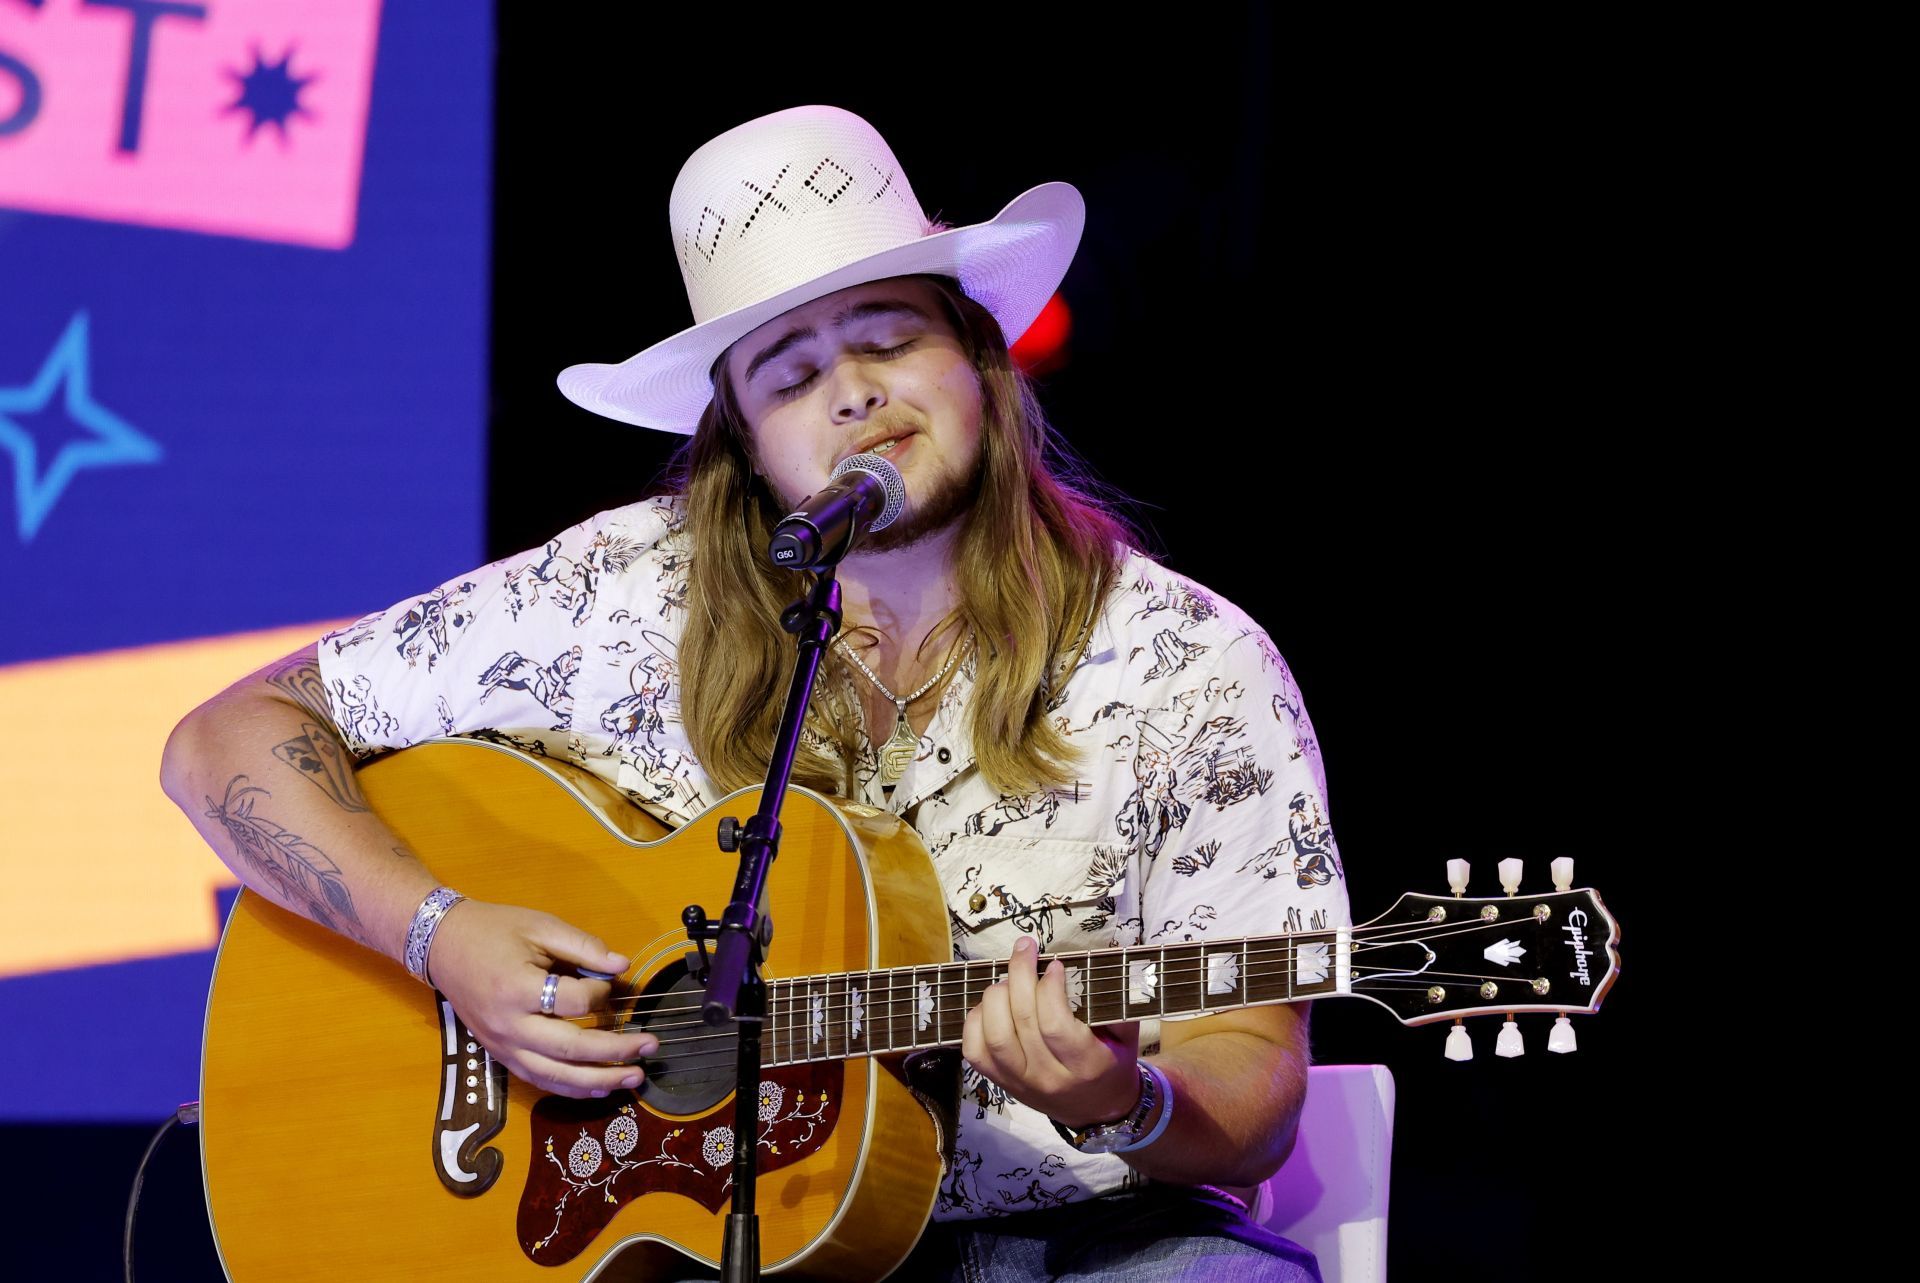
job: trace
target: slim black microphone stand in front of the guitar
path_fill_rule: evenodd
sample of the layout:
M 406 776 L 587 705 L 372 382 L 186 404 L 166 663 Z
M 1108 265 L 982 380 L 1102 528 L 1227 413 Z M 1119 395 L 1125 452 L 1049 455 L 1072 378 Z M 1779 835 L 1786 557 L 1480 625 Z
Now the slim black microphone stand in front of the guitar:
M 720 1245 L 720 1277 L 728 1283 L 755 1283 L 760 1277 L 760 1218 L 755 1212 L 760 1143 L 755 1102 L 760 1093 L 760 1024 L 766 1018 L 766 978 L 760 966 L 774 939 L 774 920 L 762 912 L 762 903 L 766 874 L 780 855 L 780 805 L 787 797 L 787 780 L 801 747 L 806 701 L 812 697 L 820 661 L 841 624 L 841 588 L 833 572 L 851 547 L 852 530 L 847 532 L 839 553 L 820 569 L 812 592 L 780 617 L 780 626 L 795 634 L 799 657 L 787 686 L 787 707 L 774 734 L 766 789 L 760 793 L 760 809 L 747 824 L 737 824 L 733 816 L 720 820 L 720 849 L 739 851 L 733 899 L 720 914 L 720 922 L 710 922 L 699 905 L 687 905 L 682 912 L 703 962 L 707 941 L 714 941 L 701 1016 L 710 1026 L 733 1020 L 739 1031 L 733 1081 L 733 1210 L 726 1218 Z

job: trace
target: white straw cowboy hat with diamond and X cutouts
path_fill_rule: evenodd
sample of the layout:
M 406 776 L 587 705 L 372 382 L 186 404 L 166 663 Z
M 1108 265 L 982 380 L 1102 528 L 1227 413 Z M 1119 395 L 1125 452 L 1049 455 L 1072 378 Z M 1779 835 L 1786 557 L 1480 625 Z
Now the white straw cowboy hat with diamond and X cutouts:
M 847 286 L 956 277 L 1012 344 L 1068 275 L 1087 202 L 1069 182 L 1043 182 L 985 223 L 929 234 L 872 125 L 839 108 L 793 108 L 689 156 L 668 223 L 693 328 L 618 365 L 570 365 L 559 382 L 595 415 L 691 434 L 722 351 L 789 307 Z

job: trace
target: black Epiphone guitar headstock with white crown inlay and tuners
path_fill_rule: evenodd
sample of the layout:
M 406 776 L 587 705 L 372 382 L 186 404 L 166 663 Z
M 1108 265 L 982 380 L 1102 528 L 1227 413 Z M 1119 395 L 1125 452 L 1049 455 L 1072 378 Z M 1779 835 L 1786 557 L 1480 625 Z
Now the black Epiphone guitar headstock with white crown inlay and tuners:
M 1594 889 L 1402 895 L 1354 928 L 1352 989 L 1404 1024 L 1596 1012 L 1620 972 L 1620 924 Z

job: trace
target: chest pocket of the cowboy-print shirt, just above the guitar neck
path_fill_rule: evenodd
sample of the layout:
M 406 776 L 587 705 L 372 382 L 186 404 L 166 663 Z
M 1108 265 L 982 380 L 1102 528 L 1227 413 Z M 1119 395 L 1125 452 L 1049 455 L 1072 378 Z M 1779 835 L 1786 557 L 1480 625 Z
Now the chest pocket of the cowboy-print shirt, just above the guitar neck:
M 960 956 L 1010 956 L 1021 935 L 1044 953 L 1116 943 L 1114 916 L 1127 885 L 1119 845 L 962 834 L 941 853 L 939 872 Z

